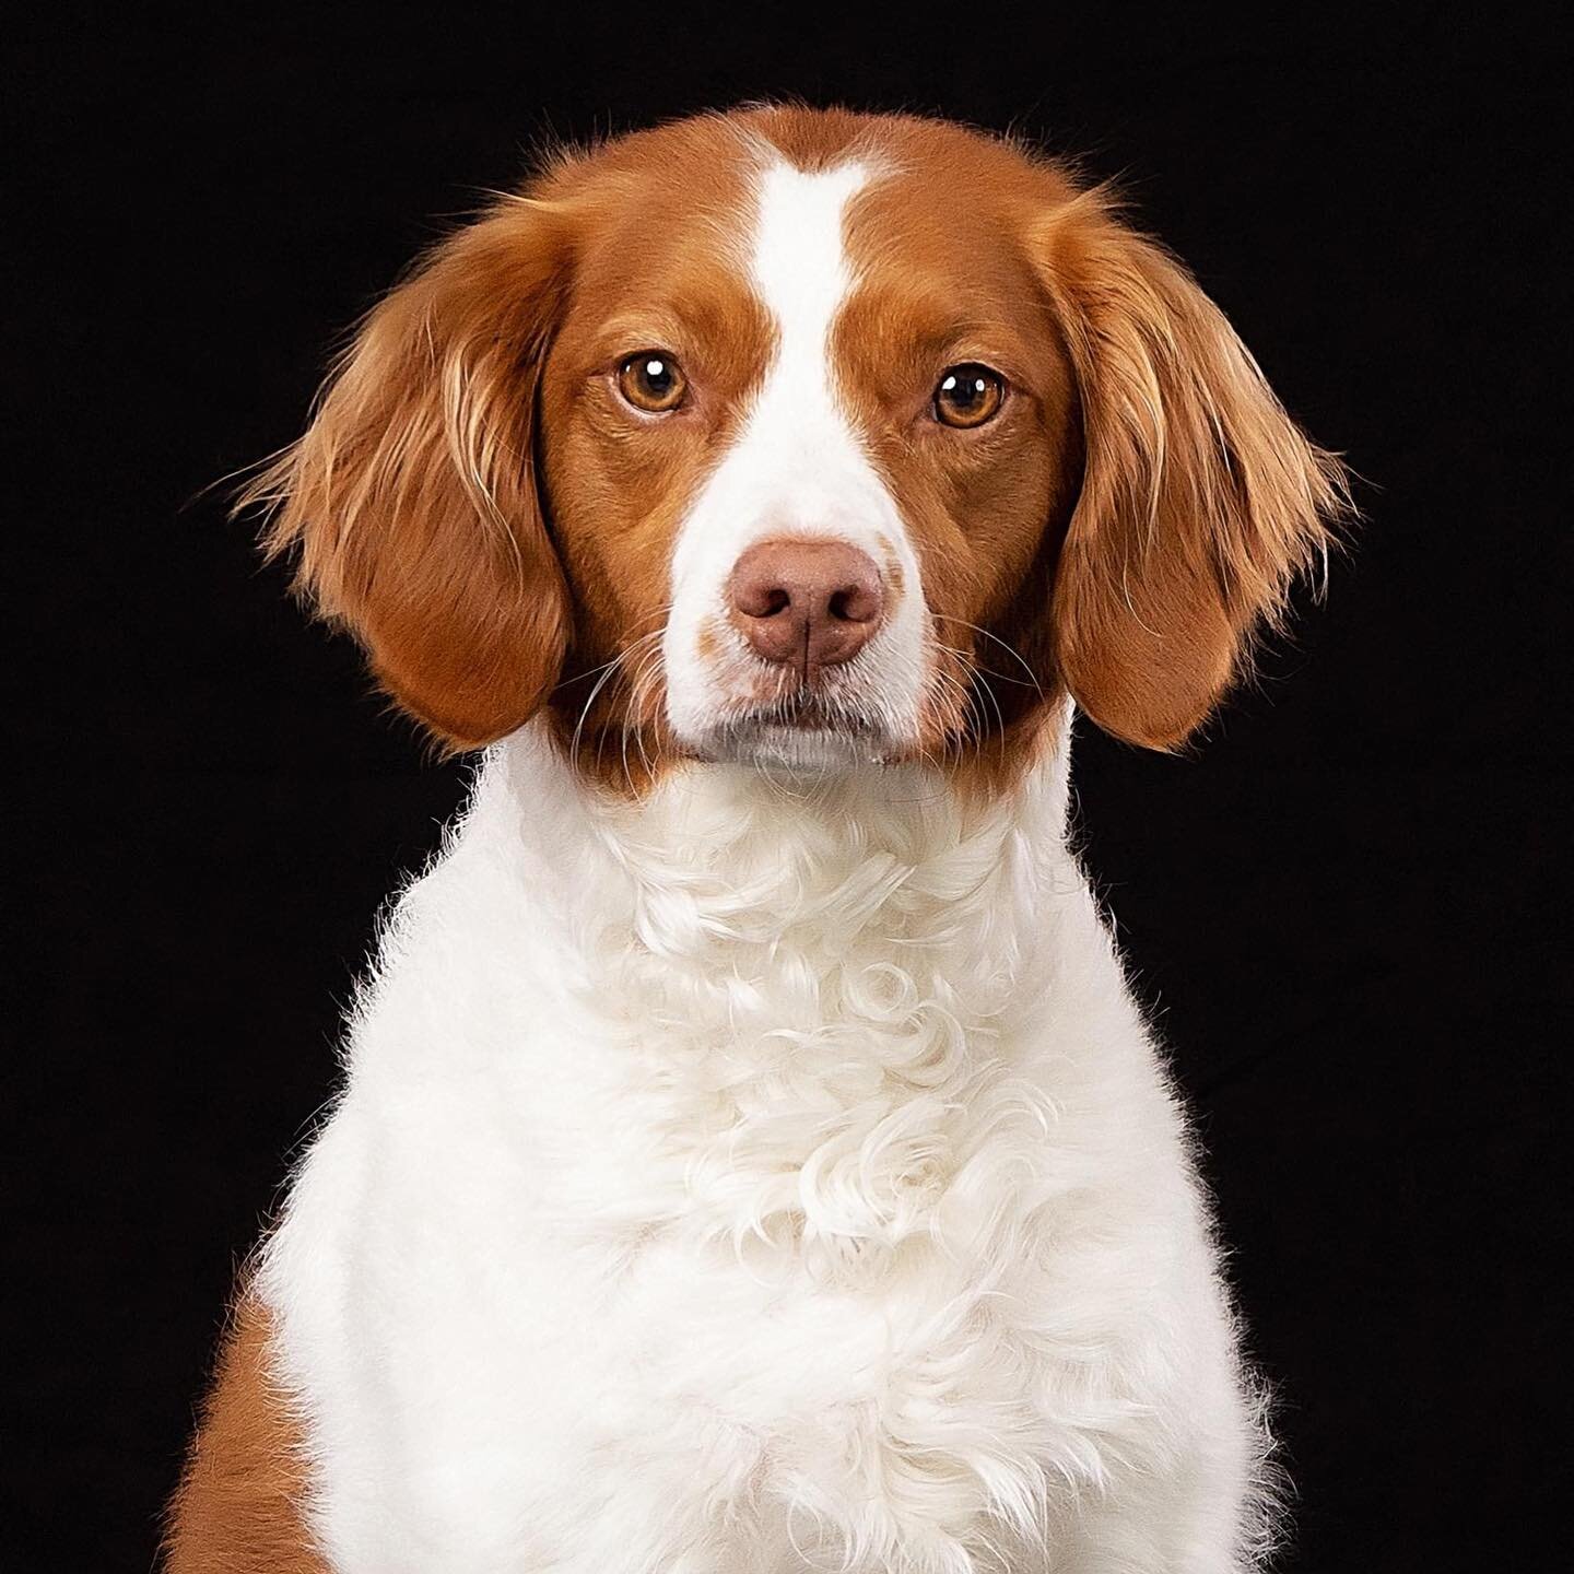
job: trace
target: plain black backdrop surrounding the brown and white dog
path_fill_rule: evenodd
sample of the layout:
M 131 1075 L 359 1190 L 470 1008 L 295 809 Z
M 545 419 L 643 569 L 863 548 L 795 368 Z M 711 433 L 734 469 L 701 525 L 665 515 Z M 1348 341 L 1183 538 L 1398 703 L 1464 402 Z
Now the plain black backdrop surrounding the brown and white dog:
M 1081 822 L 1280 1388 L 1284 1569 L 1550 1566 L 1550 28 L 1086 0 L 134 9 L 9 39 L 8 1566 L 148 1566 L 375 911 L 464 781 L 197 494 L 297 431 L 337 332 L 541 135 L 767 93 L 1015 124 L 1122 176 L 1365 477 L 1357 549 L 1259 691 L 1188 759 L 1084 735 Z

